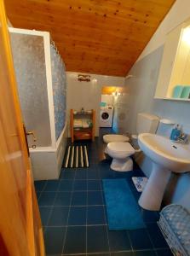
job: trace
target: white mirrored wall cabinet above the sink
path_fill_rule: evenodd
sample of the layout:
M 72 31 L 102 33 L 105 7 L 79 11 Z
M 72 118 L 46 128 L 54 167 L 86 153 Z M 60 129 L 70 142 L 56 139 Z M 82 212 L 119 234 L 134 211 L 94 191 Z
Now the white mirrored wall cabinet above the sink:
M 190 20 L 167 35 L 155 98 L 190 101 L 189 70 Z

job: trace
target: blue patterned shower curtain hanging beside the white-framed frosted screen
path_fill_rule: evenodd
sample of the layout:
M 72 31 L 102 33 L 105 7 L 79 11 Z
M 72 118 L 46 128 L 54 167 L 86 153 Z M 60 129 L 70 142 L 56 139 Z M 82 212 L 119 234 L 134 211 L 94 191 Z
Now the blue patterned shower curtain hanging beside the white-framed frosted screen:
M 57 140 L 66 123 L 66 70 L 64 62 L 52 45 L 51 68 L 55 110 L 55 136 Z

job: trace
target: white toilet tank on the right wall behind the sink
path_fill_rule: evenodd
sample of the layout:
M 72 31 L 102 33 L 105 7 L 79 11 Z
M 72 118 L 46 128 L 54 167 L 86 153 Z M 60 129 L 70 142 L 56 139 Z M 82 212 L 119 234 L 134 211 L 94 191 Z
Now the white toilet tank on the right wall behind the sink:
M 138 113 L 136 122 L 137 134 L 155 133 L 158 128 L 159 118 L 150 113 Z

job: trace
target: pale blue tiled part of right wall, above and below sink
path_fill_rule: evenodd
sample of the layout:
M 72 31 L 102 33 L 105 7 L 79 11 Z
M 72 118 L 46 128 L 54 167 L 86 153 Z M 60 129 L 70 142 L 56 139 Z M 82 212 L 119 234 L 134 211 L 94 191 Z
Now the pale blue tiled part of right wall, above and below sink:
M 163 49 L 164 47 L 161 46 L 140 61 L 135 62 L 135 65 L 130 70 L 130 73 L 134 77 L 125 81 L 130 91 L 130 117 L 126 129 L 129 129 L 132 133 L 135 133 L 137 113 L 147 112 L 156 114 L 161 118 L 174 120 L 176 123 L 182 125 L 185 132 L 190 134 L 189 102 L 154 99 Z M 158 132 L 164 136 L 168 136 L 171 128 L 172 126 L 159 126 Z M 143 156 L 143 154 L 137 160 L 143 172 L 149 176 L 152 170 L 152 161 L 146 156 Z M 190 209 L 189 183 L 189 173 L 181 175 L 172 174 L 170 185 L 165 194 L 165 201 L 167 203 L 180 203 Z

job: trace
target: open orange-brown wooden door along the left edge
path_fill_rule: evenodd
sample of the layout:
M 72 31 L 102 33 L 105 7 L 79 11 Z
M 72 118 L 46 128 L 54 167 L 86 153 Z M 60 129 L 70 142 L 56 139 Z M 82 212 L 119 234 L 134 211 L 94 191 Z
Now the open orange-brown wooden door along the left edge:
M 44 255 L 3 0 L 0 0 L 0 255 Z

